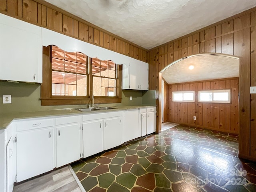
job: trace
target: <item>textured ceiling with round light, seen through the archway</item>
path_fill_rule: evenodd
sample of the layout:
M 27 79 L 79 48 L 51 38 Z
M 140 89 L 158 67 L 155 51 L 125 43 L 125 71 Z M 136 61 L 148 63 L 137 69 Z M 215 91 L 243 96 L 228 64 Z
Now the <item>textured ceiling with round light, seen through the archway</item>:
M 193 70 L 188 69 L 190 65 Z M 168 84 L 239 76 L 239 59 L 220 55 L 196 55 L 180 60 L 162 72 Z

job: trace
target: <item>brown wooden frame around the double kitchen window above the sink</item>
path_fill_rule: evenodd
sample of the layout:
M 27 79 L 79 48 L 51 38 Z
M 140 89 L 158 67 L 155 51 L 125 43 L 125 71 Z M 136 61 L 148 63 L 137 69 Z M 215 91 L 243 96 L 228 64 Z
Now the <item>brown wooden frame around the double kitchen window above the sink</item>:
M 88 57 L 87 62 L 87 96 L 52 96 L 52 68 L 51 68 L 51 46 L 43 46 L 43 81 L 41 84 L 41 106 L 92 104 L 92 63 Z M 116 96 L 97 96 L 95 103 L 108 104 L 120 103 L 122 101 L 122 66 L 116 65 L 117 82 Z

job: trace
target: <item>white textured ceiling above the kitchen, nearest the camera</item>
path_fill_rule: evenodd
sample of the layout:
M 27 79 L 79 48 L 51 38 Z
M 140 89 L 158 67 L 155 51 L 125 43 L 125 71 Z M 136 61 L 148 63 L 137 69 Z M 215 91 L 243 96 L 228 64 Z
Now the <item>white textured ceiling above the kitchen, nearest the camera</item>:
M 146 49 L 256 6 L 255 0 L 46 0 Z

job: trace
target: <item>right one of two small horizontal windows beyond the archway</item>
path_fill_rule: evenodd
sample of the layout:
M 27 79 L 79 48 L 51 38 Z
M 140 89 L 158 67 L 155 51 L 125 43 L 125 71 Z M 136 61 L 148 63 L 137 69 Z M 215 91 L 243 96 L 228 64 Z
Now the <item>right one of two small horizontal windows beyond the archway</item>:
M 199 102 L 230 103 L 230 89 L 198 92 Z

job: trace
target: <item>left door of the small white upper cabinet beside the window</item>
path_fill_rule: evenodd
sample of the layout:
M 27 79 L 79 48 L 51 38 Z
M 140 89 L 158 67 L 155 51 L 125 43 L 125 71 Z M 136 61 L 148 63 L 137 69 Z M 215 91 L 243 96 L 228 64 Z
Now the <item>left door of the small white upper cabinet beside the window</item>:
M 140 89 L 140 64 L 130 63 L 130 89 Z

